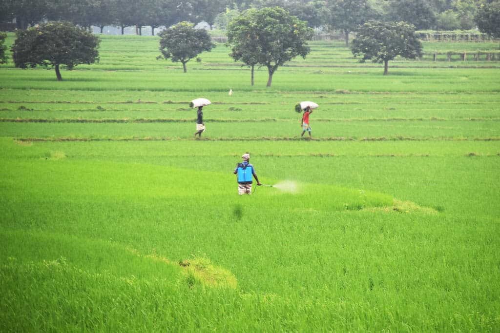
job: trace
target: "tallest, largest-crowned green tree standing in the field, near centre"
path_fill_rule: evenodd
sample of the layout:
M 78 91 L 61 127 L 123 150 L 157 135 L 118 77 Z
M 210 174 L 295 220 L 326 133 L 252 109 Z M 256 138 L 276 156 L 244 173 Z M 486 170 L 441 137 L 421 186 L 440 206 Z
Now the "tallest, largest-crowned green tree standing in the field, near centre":
M 266 66 L 268 87 L 279 66 L 297 55 L 305 58 L 310 52 L 307 40 L 312 38 L 313 30 L 307 27 L 307 22 L 289 15 L 283 8 L 250 8 L 240 18 L 241 25 L 229 24 L 227 31 L 228 36 L 234 36 L 229 42 L 231 56 L 246 64 L 256 61 Z

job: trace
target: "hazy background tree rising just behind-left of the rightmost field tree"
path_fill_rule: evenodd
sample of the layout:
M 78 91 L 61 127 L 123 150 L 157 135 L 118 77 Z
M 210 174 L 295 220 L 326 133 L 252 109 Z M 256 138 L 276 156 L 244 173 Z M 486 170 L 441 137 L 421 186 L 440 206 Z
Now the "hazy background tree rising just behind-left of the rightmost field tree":
M 349 32 L 374 18 L 374 11 L 367 0 L 328 0 L 330 24 L 344 32 L 345 46 L 349 46 Z

